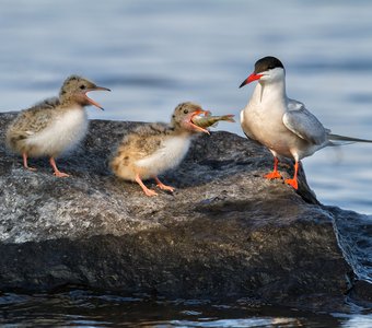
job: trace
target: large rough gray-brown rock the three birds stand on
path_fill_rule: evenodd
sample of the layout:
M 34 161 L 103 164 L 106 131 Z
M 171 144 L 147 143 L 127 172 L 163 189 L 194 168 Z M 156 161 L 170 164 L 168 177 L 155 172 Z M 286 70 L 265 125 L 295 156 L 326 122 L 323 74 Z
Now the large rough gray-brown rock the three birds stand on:
M 162 177 L 176 191 L 148 198 L 107 168 L 137 124 L 92 121 L 84 144 L 57 162 L 72 176 L 56 178 L 46 159 L 32 160 L 38 171 L 28 172 L 5 149 L 13 117 L 0 115 L 0 290 L 74 284 L 342 308 L 353 274 L 334 222 L 358 214 L 318 204 L 303 172 L 299 192 L 261 178 L 272 159 L 260 145 L 201 136 Z M 292 174 L 286 163 L 280 169 Z

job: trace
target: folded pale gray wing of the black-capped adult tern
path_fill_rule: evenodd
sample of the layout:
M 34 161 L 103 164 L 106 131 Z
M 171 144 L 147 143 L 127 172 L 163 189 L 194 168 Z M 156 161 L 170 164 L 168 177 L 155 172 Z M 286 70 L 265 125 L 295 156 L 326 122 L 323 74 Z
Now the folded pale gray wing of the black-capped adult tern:
M 283 124 L 290 131 L 313 144 L 324 143 L 329 132 L 302 103 L 292 99 L 289 99 Z

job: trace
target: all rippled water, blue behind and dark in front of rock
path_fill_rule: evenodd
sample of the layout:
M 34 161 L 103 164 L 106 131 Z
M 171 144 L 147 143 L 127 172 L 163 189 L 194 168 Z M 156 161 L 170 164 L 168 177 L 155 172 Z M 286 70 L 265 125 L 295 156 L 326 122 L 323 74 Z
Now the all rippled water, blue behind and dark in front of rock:
M 371 1 L 1 0 L 0 4 L 0 112 L 55 95 L 67 75 L 78 73 L 113 90 L 92 95 L 106 110 L 92 107 L 91 118 L 166 121 L 183 101 L 199 102 L 216 114 L 239 115 L 254 86 L 237 86 L 258 58 L 274 55 L 286 65 L 289 96 L 304 102 L 335 133 L 372 139 Z M 239 124 L 220 124 L 219 129 L 242 136 Z M 323 203 L 368 214 L 371 166 L 369 144 L 326 149 L 304 160 L 309 183 Z M 3 324 L 39 326 L 37 320 L 45 318 L 56 325 L 104 326 L 106 320 L 124 323 L 129 314 L 150 320 L 141 321 L 148 327 L 372 325 L 371 315 L 362 312 L 303 317 L 291 311 L 275 315 L 272 308 L 255 313 L 213 304 L 208 311 L 205 305 L 166 304 L 156 318 L 147 316 L 146 306 L 155 313 L 152 303 L 92 297 L 81 305 L 85 298 L 5 295 Z M 284 321 L 276 324 L 282 317 Z

